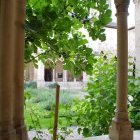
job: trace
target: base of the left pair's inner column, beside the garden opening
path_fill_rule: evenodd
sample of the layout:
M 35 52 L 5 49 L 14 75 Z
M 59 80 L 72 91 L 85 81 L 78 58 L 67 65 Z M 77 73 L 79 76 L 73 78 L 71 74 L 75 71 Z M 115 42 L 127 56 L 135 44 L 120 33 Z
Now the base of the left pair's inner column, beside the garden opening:
M 26 126 L 16 127 L 16 140 L 28 140 Z

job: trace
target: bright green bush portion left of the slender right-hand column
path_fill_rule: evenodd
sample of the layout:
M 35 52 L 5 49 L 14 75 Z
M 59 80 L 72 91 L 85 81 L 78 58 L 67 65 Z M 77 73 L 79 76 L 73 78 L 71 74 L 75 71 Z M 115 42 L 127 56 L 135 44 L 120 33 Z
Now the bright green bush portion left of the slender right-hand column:
M 111 56 L 110 56 L 111 57 Z M 77 105 L 78 124 L 85 137 L 107 134 L 115 110 L 116 59 L 97 56 L 93 75 L 87 84 L 88 95 Z

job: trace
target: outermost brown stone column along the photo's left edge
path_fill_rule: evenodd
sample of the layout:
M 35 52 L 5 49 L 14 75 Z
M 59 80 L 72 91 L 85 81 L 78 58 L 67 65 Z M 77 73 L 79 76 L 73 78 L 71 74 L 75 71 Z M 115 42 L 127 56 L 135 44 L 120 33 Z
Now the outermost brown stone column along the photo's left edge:
M 15 140 L 13 127 L 15 1 L 0 0 L 0 140 Z

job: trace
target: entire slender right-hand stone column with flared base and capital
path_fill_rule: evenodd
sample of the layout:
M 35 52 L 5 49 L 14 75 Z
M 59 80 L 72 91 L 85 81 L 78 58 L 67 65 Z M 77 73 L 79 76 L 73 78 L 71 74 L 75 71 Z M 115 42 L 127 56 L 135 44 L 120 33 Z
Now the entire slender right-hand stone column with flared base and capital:
M 115 0 L 117 9 L 117 108 L 109 131 L 111 140 L 132 140 L 133 132 L 127 112 L 129 0 Z

